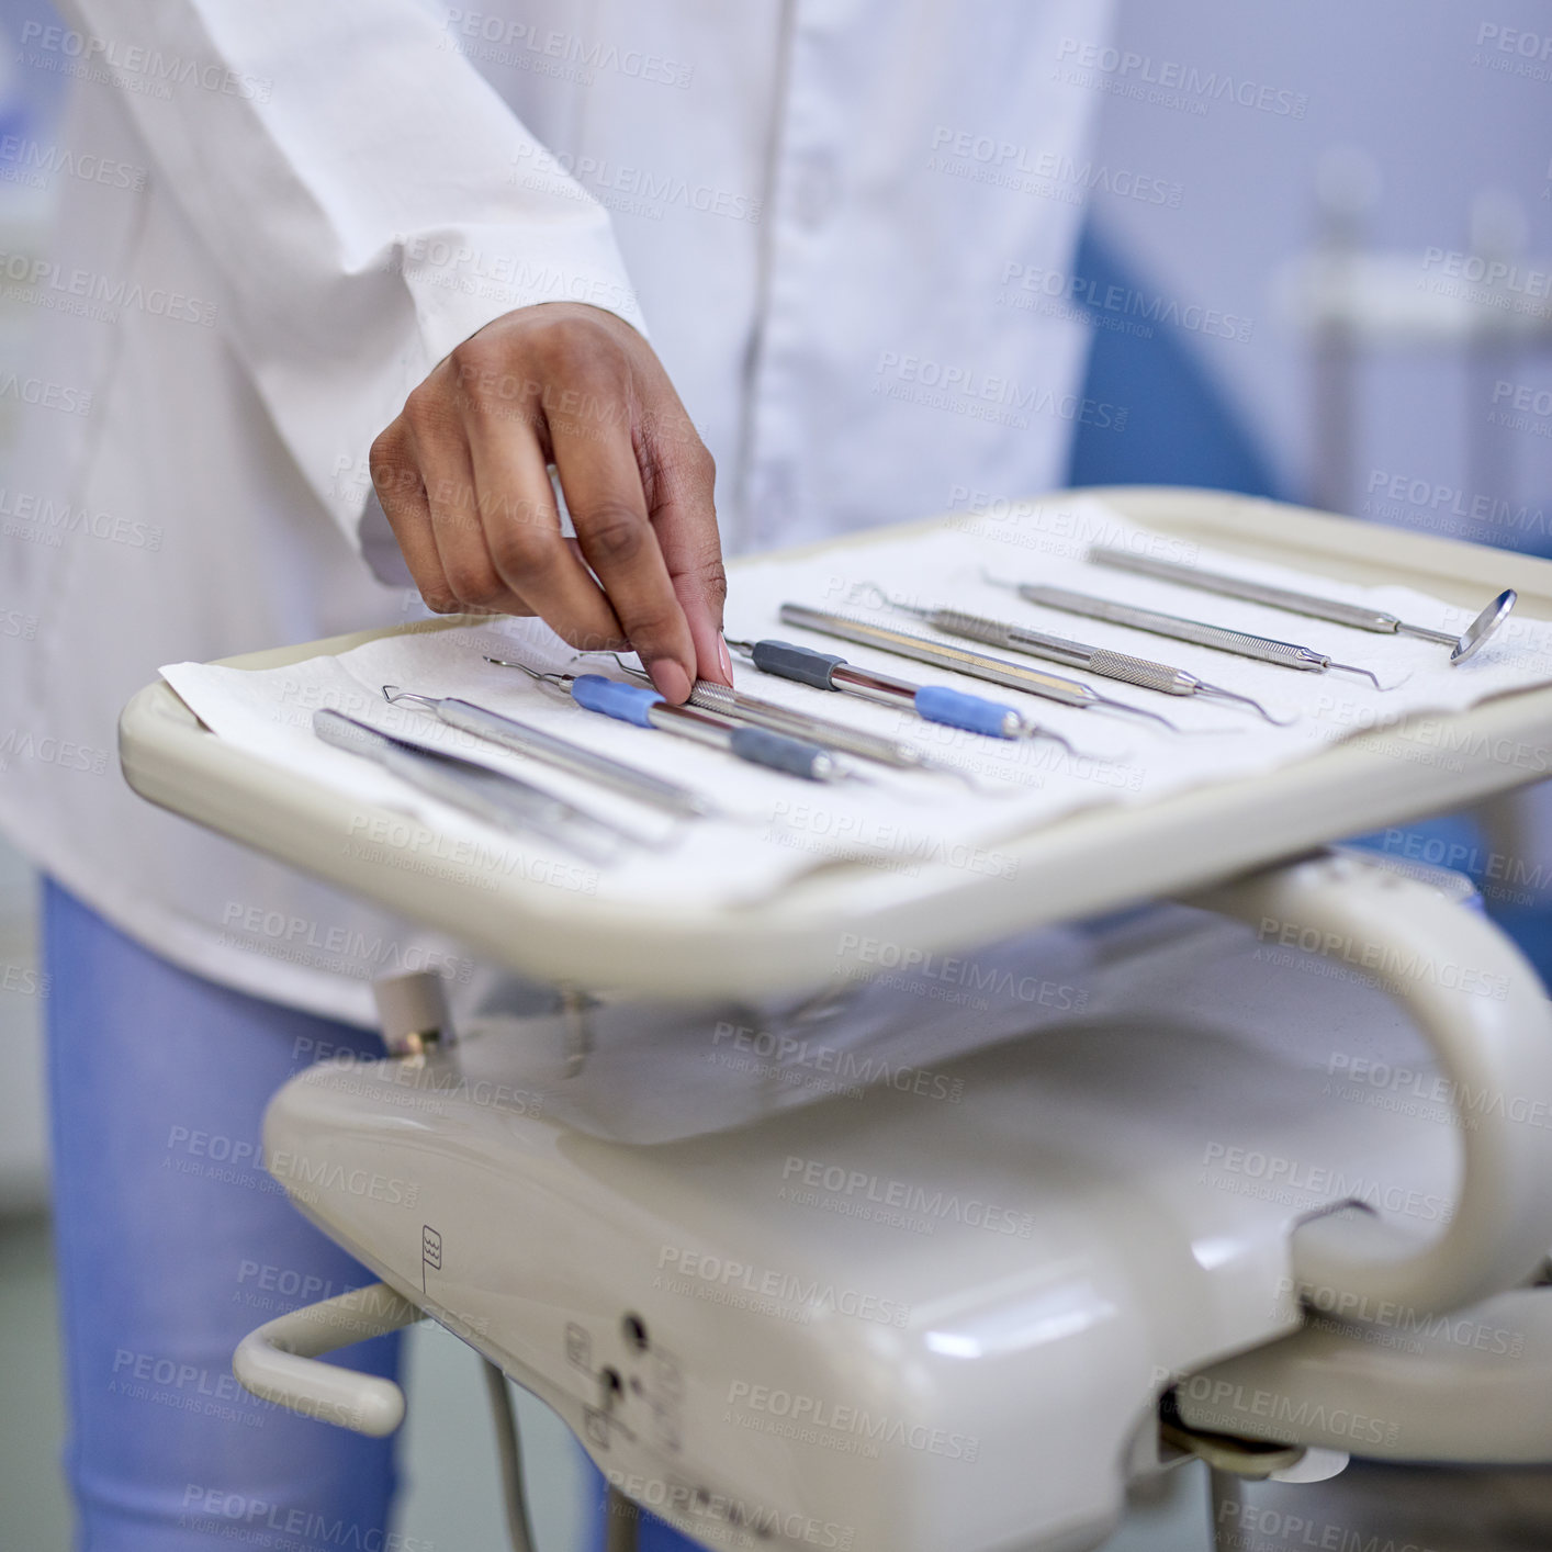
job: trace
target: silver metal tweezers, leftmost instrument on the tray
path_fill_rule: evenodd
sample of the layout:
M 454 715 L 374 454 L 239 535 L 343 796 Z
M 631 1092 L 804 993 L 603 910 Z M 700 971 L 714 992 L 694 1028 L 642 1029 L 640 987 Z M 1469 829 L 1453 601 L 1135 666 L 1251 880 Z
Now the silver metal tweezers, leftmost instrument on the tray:
M 462 809 L 464 813 L 503 830 L 534 830 L 588 861 L 611 861 L 618 850 L 613 844 L 599 844 L 598 835 L 639 844 L 641 838 L 630 830 L 531 787 L 518 776 L 487 770 L 456 754 L 439 754 L 404 743 L 343 712 L 315 711 L 312 731 L 332 748 L 365 756 L 419 792 Z

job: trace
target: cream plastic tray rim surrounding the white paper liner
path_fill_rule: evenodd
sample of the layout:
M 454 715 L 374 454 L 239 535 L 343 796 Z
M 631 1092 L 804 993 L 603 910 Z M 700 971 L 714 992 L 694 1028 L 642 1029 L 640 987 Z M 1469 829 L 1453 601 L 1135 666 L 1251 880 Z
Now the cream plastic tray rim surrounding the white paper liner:
M 1148 528 L 1335 579 L 1406 584 L 1459 605 L 1515 587 L 1523 618 L 1552 619 L 1547 560 L 1221 492 L 1094 494 Z M 908 531 L 850 535 L 807 553 L 861 551 L 880 534 Z M 450 624 L 466 621 L 410 629 Z M 383 632 L 250 653 L 228 666 L 279 667 L 346 652 L 376 635 Z M 1437 757 L 1440 747 L 1451 750 L 1448 759 Z M 1519 757 L 1502 759 L 1504 748 L 1516 748 Z M 854 959 L 877 962 L 880 953 L 891 958 L 906 947 L 954 951 L 1187 892 L 1344 835 L 1524 785 L 1552 768 L 1552 686 L 1446 717 L 1408 719 L 1383 736 L 1355 737 L 1271 774 L 1041 826 L 999 841 L 999 852 L 1017 864 L 1012 877 L 923 864 L 911 877 L 882 878 L 872 866 L 835 864 L 734 911 L 641 913 L 494 868 L 470 880 L 478 861 L 410 872 L 380 855 L 362 855 L 346 846 L 360 826 L 359 802 L 281 779 L 276 768 L 205 731 L 160 681 L 126 706 L 120 757 L 129 784 L 151 802 L 447 931 L 514 970 L 553 982 L 715 996 L 818 984 Z M 383 818 L 405 823 L 386 812 Z M 435 855 L 435 835 L 424 827 L 417 833 L 424 854 Z

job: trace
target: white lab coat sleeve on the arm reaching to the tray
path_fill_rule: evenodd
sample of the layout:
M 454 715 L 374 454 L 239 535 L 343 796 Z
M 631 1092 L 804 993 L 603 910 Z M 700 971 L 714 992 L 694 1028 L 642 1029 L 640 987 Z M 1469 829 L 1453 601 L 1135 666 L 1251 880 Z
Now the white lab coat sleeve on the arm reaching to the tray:
M 644 332 L 604 208 L 421 0 L 62 9 L 82 62 L 118 81 L 225 282 L 219 326 L 354 545 L 363 517 L 382 526 L 372 438 L 459 341 L 546 301 Z

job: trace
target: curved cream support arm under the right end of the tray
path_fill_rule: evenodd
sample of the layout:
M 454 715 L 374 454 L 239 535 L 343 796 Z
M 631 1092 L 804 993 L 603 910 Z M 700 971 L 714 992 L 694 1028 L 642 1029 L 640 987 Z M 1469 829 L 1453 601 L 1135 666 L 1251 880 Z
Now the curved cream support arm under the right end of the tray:
M 1301 1294 L 1339 1308 L 1429 1315 L 1526 1282 L 1552 1245 L 1552 1128 L 1515 1116 L 1552 1094 L 1552 1003 L 1510 939 L 1429 885 L 1352 855 L 1252 874 L 1189 903 L 1257 927 L 1294 925 L 1304 951 L 1356 951 L 1381 973 L 1403 967 L 1386 976 L 1386 989 L 1431 1044 L 1446 1091 L 1460 1097 L 1457 1108 L 1471 1107 L 1470 1125 L 1459 1130 L 1460 1184 L 1443 1231 L 1425 1238 L 1333 1203 L 1293 1232 Z M 1405 968 L 1412 965 L 1422 970 Z M 1439 965 L 1470 965 L 1470 987 L 1422 973 Z

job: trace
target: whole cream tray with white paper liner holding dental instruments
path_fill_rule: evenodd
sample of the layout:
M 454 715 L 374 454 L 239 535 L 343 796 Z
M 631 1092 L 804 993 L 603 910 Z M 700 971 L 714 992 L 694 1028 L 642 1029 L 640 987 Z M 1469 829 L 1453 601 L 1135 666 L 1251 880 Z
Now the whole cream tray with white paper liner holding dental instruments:
M 1161 565 L 1107 563 L 1102 551 L 1113 560 L 1117 549 Z M 1256 588 L 1225 596 L 1192 587 L 1172 576 L 1181 566 L 1243 576 L 1268 598 L 1293 588 L 1426 629 L 1377 635 L 1288 613 L 1252 598 Z M 852 965 L 951 953 L 1189 894 L 1552 774 L 1552 562 L 1512 551 L 1221 492 L 1113 487 L 961 504 L 925 523 L 745 557 L 731 563 L 729 584 L 726 633 L 750 644 L 754 663 L 754 646 L 781 639 L 807 649 L 790 661 L 855 667 L 850 684 L 841 674 L 821 683 L 809 669 L 793 683 L 736 656 L 740 694 L 759 697 L 776 729 L 767 737 L 802 737 L 805 715 L 827 717 L 858 729 L 863 754 L 869 743 L 914 745 L 917 768 L 847 750 L 837 768 L 849 779 L 823 784 L 751 770 L 725 753 L 726 737 L 719 748 L 655 737 L 646 714 L 638 726 L 594 719 L 546 689 L 593 674 L 639 686 L 629 661 L 571 661 L 532 622 L 461 618 L 169 667 L 124 709 L 124 774 L 151 802 L 517 972 L 677 998 L 813 986 Z M 1223 635 L 1308 643 L 1329 670 L 1291 672 L 1034 602 L 1062 588 L 1113 599 L 1130 618 L 1190 616 Z M 1518 601 L 1454 666 L 1437 643 L 1505 590 Z M 1017 647 L 1029 638 L 1041 655 L 970 650 L 934 625 L 953 625 L 950 610 L 979 621 L 982 643 L 993 639 L 987 616 L 1006 621 L 1017 629 L 996 639 Z M 844 639 L 837 630 L 850 627 L 819 629 L 838 616 L 868 629 Z M 888 636 L 930 639 L 934 650 L 908 649 L 917 653 L 909 661 L 875 644 Z M 970 666 L 947 667 L 954 652 Z M 1006 672 L 989 669 L 992 658 Z M 1100 658 L 1108 674 L 1094 667 Z M 551 683 L 503 667 L 509 660 Z M 1125 664 L 1141 660 L 1158 670 L 1153 681 L 1127 680 Z M 393 705 L 379 694 L 390 669 L 388 688 L 404 692 Z M 1204 683 L 1226 698 L 1172 692 L 1159 675 L 1175 675 L 1176 691 Z M 996 715 L 978 731 L 973 717 L 942 725 L 923 709 L 920 686 L 944 700 L 950 720 L 965 706 L 1003 711 L 992 706 Z M 284 708 L 265 711 L 261 688 Z M 478 739 L 438 722 L 438 697 L 532 723 L 557 747 L 565 739 L 573 770 L 557 774 L 556 759 L 523 764 L 515 737 L 508 750 L 475 751 Z M 733 700 L 697 703 L 720 715 Z M 210 709 L 228 702 L 230 729 Z M 1260 706 L 1266 715 L 1252 709 Z M 639 844 L 616 874 L 568 857 L 542 832 L 481 832 L 469 813 L 416 809 L 393 787 L 394 760 L 385 768 L 312 737 L 318 708 L 445 756 L 515 762 L 508 774 L 615 829 L 639 829 Z M 629 796 L 588 784 L 587 759 L 604 765 L 605 756 L 627 787 L 627 768 L 641 768 L 647 781 L 705 798 L 705 813 L 660 812 L 647 823 Z

